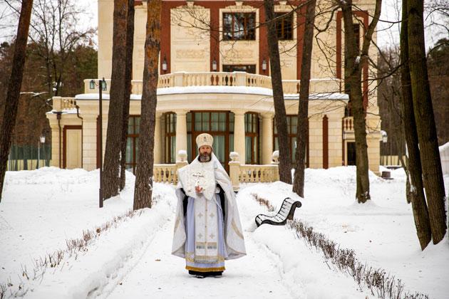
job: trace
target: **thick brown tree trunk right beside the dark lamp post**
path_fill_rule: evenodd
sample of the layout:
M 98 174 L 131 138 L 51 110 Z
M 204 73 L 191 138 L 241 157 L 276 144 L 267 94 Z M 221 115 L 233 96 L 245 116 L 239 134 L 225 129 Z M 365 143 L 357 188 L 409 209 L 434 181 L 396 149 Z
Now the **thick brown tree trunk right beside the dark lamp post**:
M 126 19 L 128 0 L 114 0 L 113 62 L 110 82 L 108 131 L 103 170 L 103 197 L 118 194 L 120 149 L 122 142 L 123 101 L 126 73 Z

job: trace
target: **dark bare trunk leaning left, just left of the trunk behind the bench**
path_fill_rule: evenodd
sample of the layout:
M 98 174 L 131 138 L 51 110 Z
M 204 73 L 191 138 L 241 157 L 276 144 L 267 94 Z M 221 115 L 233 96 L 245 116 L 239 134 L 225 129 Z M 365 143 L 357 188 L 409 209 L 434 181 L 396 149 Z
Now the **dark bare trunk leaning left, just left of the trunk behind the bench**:
M 284 90 L 282 90 L 281 62 L 277 41 L 276 22 L 274 15 L 274 0 L 264 0 L 265 14 L 268 27 L 269 66 L 272 76 L 274 101 L 274 119 L 276 120 L 277 139 L 279 144 L 279 179 L 291 184 L 291 159 L 289 154 L 289 137 L 287 132 L 287 115 L 284 104 Z

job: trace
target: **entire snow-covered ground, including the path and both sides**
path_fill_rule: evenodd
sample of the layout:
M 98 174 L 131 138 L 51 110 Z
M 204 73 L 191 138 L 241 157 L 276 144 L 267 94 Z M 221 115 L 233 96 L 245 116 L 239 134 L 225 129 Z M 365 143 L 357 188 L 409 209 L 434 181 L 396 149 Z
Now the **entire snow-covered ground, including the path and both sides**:
M 392 177 L 384 181 L 371 174 L 372 200 L 356 204 L 354 167 L 306 169 L 306 199 L 300 199 L 303 205 L 295 218 L 341 248 L 353 248 L 362 263 L 401 279 L 404 290 L 447 298 L 448 238 L 420 251 L 402 169 L 393 171 Z M 448 189 L 448 176 L 445 184 Z M 98 171 L 46 167 L 7 172 L 0 204 L 0 285 L 6 295 L 12 291 L 27 298 L 376 298 L 351 276 L 325 263 L 321 252 L 287 227 L 256 229 L 254 217 L 267 209 L 259 206 L 254 194 L 268 199 L 277 211 L 282 199 L 295 196 L 290 185 L 241 187 L 237 202 L 248 255 L 227 261 L 220 279 L 193 278 L 185 271 L 185 262 L 170 255 L 174 188 L 155 184 L 153 209 L 130 217 L 125 215 L 133 206 L 133 185 L 133 174 L 128 173 L 125 190 L 98 209 Z M 97 230 L 100 226 L 103 229 Z M 83 237 L 86 246 L 67 250 L 67 241 Z M 48 255 L 56 266 L 49 266 Z M 46 259 L 48 266 L 36 267 Z

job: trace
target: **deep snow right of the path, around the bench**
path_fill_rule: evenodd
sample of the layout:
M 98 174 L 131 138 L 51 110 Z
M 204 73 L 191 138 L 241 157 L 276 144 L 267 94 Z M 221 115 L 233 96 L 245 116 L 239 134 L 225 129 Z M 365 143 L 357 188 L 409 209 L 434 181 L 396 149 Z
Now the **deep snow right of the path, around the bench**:
M 239 192 L 239 204 L 244 214 L 251 215 L 245 219 L 246 230 L 255 230 L 254 238 L 279 256 L 280 261 L 285 261 L 279 271 L 284 273 L 286 284 L 292 289 L 301 288 L 298 283 L 301 284 L 307 290 L 307 298 L 339 298 L 346 294 L 346 287 L 353 290 L 356 285 L 341 282 L 338 273 L 326 272 L 323 259 L 316 258 L 314 250 L 309 250 L 302 241 L 294 240 L 293 233 L 265 225 L 255 229 L 254 217 L 270 213 L 254 201 L 252 194 L 269 199 L 274 206 L 273 213 L 285 197 L 299 199 L 302 206 L 296 209 L 295 219 L 314 227 L 342 248 L 352 248 L 360 261 L 384 268 L 401 279 L 407 291 L 426 293 L 430 298 L 447 298 L 448 288 L 443 278 L 449 275 L 449 241 L 429 244 L 425 251 L 420 251 L 411 205 L 406 203 L 403 169 L 392 171 L 392 177 L 398 178 L 393 180 L 370 174 L 371 201 L 367 204 L 355 200 L 355 172 L 355 167 L 306 169 L 305 199 L 291 192 L 291 185 L 282 182 L 245 185 Z M 445 177 L 446 186 L 448 183 L 449 177 Z M 327 286 L 319 288 L 323 277 L 326 285 L 328 281 L 331 283 L 329 289 L 334 290 L 335 297 L 328 293 Z M 346 279 L 351 278 L 346 276 Z M 339 288 L 339 285 L 346 287 Z M 364 295 L 358 293 L 355 298 Z

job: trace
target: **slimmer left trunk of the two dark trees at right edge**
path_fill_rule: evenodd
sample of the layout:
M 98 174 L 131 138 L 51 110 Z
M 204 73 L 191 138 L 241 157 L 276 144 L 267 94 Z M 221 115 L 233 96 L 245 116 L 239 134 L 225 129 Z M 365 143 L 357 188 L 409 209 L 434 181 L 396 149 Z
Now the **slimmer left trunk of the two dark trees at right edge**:
M 415 115 L 413 114 L 413 95 L 411 90 L 410 69 L 408 66 L 408 17 L 407 1 L 402 1 L 401 23 L 401 110 L 403 112 L 404 125 L 406 125 L 406 143 L 408 149 L 408 172 L 410 173 L 411 188 L 408 194 L 411 198 L 413 218 L 415 219 L 416 234 L 421 250 L 430 242 L 431 231 L 427 204 L 423 190 L 423 173 L 421 170 L 420 152 L 418 147 L 418 133 L 416 132 Z

